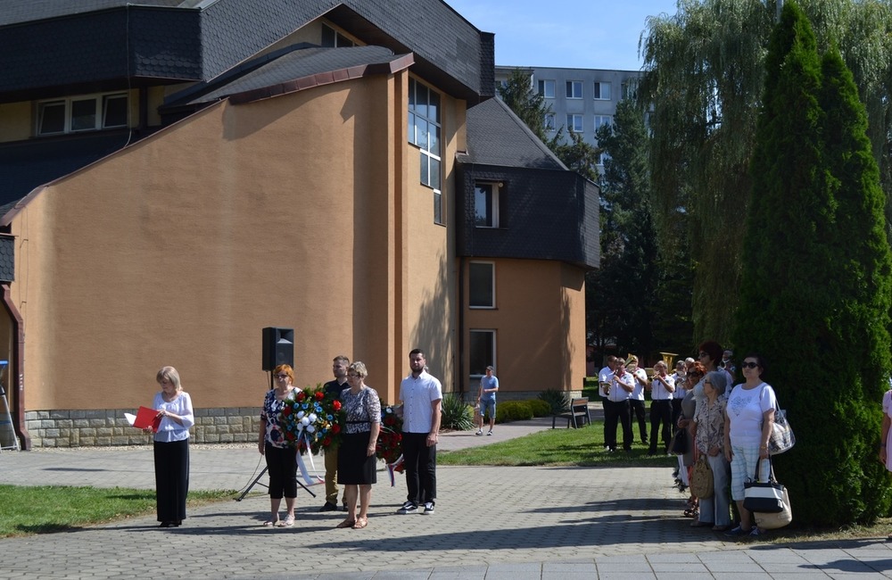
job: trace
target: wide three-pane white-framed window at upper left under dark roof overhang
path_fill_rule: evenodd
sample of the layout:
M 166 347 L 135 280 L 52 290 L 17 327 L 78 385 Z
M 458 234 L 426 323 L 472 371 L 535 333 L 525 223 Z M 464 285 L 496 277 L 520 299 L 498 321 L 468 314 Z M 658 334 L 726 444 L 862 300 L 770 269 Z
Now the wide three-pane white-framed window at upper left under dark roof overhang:
M 127 127 L 127 93 L 79 95 L 37 103 L 37 135 Z

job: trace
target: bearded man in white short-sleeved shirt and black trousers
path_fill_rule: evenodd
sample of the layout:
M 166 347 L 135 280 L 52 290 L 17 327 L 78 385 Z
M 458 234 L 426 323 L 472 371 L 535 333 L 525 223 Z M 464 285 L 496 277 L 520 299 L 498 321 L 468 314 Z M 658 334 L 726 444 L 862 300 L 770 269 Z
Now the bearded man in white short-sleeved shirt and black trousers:
M 400 384 L 402 402 L 402 460 L 409 495 L 399 514 L 434 514 L 437 497 L 437 435 L 440 432 L 442 385 L 425 370 L 427 360 L 421 349 L 409 352 L 409 377 Z

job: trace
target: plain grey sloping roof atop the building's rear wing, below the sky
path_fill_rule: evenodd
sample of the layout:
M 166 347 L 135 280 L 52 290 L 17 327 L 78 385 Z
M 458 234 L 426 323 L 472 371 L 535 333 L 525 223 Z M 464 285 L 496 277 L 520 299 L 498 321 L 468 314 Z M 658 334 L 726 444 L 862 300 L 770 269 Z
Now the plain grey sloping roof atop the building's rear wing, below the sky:
M 564 163 L 499 98 L 467 110 L 467 156 L 463 155 L 460 161 L 566 170 Z

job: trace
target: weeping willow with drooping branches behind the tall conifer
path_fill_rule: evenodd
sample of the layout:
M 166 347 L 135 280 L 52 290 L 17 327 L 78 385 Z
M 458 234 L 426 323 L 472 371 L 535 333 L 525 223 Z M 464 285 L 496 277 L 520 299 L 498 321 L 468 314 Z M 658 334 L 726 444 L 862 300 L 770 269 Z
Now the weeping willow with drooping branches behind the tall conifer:
M 800 5 L 819 50 L 835 39 L 854 74 L 888 197 L 892 0 Z M 674 15 L 648 19 L 640 41 L 639 98 L 650 108 L 658 241 L 667 255 L 680 246 L 690 252 L 695 336 L 723 344 L 731 339 L 739 300 L 739 255 L 752 186 L 748 169 L 776 14 L 774 0 L 679 0 Z M 680 213 L 689 225 L 684 236 L 673 228 Z

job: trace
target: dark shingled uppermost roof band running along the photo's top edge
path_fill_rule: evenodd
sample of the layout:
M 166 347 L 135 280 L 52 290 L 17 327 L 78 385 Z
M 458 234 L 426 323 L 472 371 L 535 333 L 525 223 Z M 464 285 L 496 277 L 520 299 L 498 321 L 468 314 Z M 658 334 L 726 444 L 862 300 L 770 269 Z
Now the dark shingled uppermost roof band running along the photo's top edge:
M 442 0 L 4 0 L 2 13 L 0 102 L 207 81 L 321 16 L 415 54 L 450 95 L 494 94 L 493 36 Z

